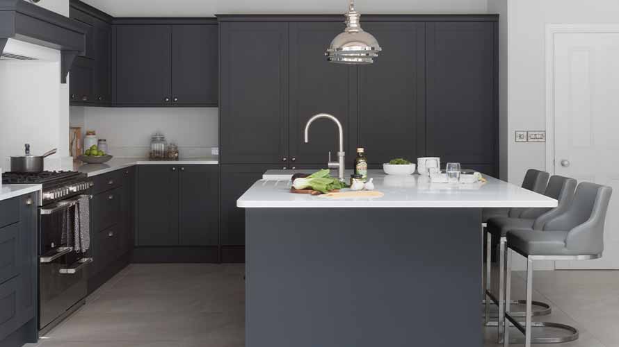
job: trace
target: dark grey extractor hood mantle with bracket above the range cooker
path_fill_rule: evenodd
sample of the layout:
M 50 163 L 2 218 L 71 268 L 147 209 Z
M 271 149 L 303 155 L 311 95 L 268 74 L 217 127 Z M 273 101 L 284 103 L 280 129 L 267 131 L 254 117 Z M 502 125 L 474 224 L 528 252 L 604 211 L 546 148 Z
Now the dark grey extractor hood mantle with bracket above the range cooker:
M 8 39 L 61 51 L 61 83 L 86 49 L 88 26 L 24 0 L 0 0 L 0 54 Z

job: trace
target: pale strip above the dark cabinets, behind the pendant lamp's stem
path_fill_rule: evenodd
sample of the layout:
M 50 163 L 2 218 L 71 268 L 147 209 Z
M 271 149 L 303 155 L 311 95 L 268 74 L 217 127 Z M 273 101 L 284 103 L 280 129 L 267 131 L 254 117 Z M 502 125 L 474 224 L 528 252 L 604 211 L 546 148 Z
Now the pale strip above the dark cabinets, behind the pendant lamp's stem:
M 83 0 L 114 17 L 344 13 L 346 0 Z M 488 0 L 357 0 L 363 13 L 485 13 Z M 343 20 L 343 19 L 342 19 Z

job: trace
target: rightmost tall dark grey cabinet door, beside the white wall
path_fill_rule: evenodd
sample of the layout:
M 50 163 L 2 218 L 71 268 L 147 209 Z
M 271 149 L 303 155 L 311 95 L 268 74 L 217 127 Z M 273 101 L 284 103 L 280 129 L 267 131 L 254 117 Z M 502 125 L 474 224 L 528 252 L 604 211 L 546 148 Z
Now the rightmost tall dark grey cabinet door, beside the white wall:
M 498 174 L 497 23 L 426 24 L 426 154 Z

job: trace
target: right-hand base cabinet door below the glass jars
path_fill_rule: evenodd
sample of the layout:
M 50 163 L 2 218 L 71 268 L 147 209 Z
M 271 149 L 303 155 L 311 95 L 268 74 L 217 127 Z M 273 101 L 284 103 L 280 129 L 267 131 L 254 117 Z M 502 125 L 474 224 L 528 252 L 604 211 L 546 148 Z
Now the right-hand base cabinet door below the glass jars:
M 219 169 L 217 165 L 179 166 L 179 245 L 217 246 Z

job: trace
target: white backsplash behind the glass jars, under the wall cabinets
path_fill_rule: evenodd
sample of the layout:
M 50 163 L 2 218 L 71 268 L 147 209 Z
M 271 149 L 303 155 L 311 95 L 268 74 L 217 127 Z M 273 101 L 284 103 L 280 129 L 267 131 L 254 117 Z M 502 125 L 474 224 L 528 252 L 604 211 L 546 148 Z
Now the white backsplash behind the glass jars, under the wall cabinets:
M 96 130 L 117 158 L 145 158 L 157 131 L 183 158 L 211 157 L 219 144 L 218 108 L 71 108 L 71 126 Z

